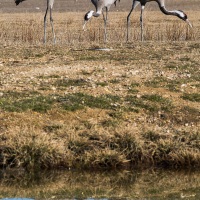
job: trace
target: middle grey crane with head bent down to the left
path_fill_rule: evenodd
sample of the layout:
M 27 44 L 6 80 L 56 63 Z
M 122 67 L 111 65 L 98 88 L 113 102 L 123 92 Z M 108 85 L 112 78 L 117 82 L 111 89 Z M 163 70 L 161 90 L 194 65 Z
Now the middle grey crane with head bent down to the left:
M 112 4 L 115 4 L 116 2 L 120 0 L 91 0 L 93 5 L 96 8 L 96 12 L 93 10 L 88 11 L 84 16 L 84 25 L 83 29 L 85 30 L 85 25 L 87 22 L 91 19 L 91 17 L 99 17 L 101 14 L 103 14 L 103 20 L 104 20 L 104 41 L 107 41 L 107 19 L 108 19 L 108 11 L 110 10 L 110 7 Z M 106 10 L 106 15 L 104 15 L 103 9 Z

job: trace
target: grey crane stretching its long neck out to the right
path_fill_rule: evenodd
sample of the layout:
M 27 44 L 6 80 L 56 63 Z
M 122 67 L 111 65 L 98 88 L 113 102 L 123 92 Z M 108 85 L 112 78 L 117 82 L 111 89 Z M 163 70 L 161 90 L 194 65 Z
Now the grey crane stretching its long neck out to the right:
M 186 21 L 190 27 L 192 27 L 192 24 L 188 20 L 187 15 L 182 11 L 182 10 L 172 10 L 169 11 L 165 8 L 165 0 L 133 0 L 132 8 L 131 11 L 129 12 L 127 16 L 127 41 L 129 40 L 129 24 L 130 24 L 130 15 L 132 11 L 139 5 L 141 4 L 141 15 L 140 15 L 140 23 L 141 23 L 141 40 L 144 40 L 144 35 L 143 35 L 143 11 L 145 8 L 145 5 L 147 2 L 155 1 L 158 3 L 158 6 L 165 15 L 174 15 L 179 17 L 180 19 Z

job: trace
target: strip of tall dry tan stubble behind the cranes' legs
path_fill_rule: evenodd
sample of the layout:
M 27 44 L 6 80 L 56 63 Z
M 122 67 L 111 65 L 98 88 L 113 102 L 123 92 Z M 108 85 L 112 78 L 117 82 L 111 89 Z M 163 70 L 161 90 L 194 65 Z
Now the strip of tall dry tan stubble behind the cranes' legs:
M 0 39 L 7 44 L 41 44 L 43 41 L 43 14 L 30 14 L 24 18 L 20 14 L 1 14 Z M 126 41 L 125 12 L 110 12 L 108 23 L 109 43 L 124 43 Z M 160 12 L 145 13 L 146 41 L 198 41 L 200 39 L 198 12 L 189 12 L 190 21 L 194 25 L 190 29 L 178 18 L 165 16 Z M 55 29 L 58 44 L 80 45 L 86 43 L 99 44 L 103 42 L 103 19 L 94 18 L 87 25 L 87 31 L 82 30 L 84 13 L 54 13 Z M 130 42 L 140 40 L 139 12 L 133 13 L 130 29 Z M 48 41 L 52 43 L 51 28 L 48 27 Z

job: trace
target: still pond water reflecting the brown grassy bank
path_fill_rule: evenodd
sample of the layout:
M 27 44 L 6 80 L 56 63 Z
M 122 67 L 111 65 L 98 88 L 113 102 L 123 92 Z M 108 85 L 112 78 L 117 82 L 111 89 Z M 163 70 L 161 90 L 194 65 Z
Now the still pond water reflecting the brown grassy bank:
M 200 171 L 1 171 L 0 199 L 9 198 L 199 200 Z

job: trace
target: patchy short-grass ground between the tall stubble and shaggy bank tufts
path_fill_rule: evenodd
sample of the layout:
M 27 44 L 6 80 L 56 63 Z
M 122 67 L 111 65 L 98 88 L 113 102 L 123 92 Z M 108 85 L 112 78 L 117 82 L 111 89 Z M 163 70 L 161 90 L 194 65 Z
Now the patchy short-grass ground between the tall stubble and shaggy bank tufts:
M 137 43 L 110 49 L 1 48 L 2 144 L 12 144 L 5 135 L 51 133 L 57 139 L 101 137 L 103 142 L 127 131 L 166 139 L 197 134 L 192 154 L 199 163 L 199 44 Z

